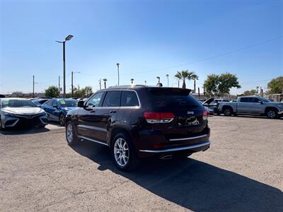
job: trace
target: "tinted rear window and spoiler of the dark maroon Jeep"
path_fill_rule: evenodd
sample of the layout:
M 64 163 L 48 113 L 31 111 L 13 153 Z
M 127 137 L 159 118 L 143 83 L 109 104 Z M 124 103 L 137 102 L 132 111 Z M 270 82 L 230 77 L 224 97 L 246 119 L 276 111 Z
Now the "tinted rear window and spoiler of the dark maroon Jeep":
M 166 110 L 202 107 L 187 89 L 149 88 L 154 106 Z

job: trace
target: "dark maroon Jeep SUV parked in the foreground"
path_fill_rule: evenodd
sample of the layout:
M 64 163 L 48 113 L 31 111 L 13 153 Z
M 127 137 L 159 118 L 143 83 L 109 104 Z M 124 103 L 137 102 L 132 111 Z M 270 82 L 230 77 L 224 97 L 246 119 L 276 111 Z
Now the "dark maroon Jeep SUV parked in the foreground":
M 67 114 L 67 143 L 108 146 L 120 170 L 136 167 L 140 158 L 187 157 L 210 146 L 208 112 L 188 89 L 117 86 L 78 106 Z

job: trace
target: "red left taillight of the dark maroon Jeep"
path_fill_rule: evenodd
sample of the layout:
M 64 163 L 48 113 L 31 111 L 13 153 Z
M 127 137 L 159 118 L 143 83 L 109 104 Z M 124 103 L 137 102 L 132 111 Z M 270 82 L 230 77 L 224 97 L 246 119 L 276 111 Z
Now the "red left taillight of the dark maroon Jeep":
M 169 123 L 174 119 L 174 114 L 171 112 L 144 112 L 144 119 L 147 123 Z

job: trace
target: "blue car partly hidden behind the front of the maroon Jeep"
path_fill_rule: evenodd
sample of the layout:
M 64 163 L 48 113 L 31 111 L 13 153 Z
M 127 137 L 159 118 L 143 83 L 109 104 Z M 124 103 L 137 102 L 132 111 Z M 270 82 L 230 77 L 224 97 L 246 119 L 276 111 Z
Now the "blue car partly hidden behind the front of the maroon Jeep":
M 47 100 L 41 105 L 42 109 L 47 113 L 48 120 L 65 124 L 67 112 L 76 108 L 77 100 L 58 98 Z

